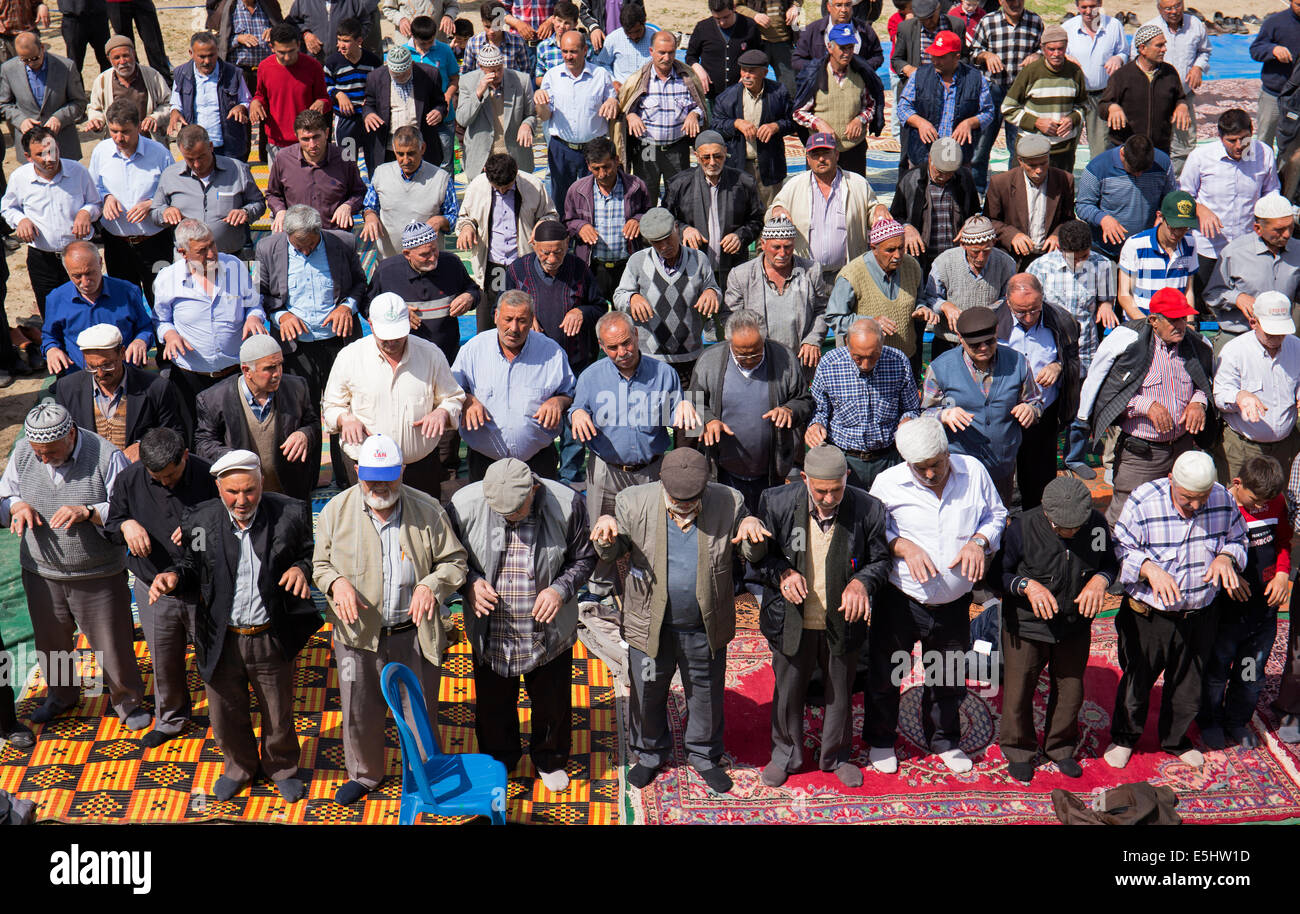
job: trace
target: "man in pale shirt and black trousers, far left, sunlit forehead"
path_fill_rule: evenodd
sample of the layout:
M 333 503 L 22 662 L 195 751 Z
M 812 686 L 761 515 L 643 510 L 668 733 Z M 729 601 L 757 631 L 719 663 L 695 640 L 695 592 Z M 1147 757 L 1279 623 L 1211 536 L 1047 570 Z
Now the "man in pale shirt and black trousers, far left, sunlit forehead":
M 44 317 L 46 296 L 68 282 L 58 252 L 75 239 L 90 238 L 91 222 L 100 213 L 100 195 L 81 163 L 61 159 L 48 127 L 27 130 L 22 151 L 29 161 L 10 176 L 0 198 L 0 217 L 27 246 L 27 280 L 36 312 Z

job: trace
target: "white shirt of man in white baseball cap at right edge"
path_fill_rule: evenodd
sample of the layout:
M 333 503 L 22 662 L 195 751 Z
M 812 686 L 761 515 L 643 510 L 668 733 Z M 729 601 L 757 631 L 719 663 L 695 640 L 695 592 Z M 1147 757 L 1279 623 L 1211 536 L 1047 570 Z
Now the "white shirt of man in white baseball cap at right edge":
M 1269 410 L 1257 423 L 1248 423 L 1236 406 L 1236 395 L 1248 391 Z M 1300 339 L 1282 338 L 1282 350 L 1273 358 L 1254 335 L 1244 333 L 1219 352 L 1214 373 L 1214 406 L 1223 420 L 1243 438 L 1269 443 L 1282 441 L 1296 424 L 1296 398 L 1300 397 Z

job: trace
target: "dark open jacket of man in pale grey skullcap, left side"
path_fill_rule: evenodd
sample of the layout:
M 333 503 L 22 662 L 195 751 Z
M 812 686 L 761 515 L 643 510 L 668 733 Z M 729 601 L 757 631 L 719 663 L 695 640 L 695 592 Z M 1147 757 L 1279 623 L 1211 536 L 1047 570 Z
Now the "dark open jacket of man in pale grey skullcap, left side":
M 194 450 L 204 460 L 216 462 L 226 451 L 250 450 L 256 452 L 240 398 L 239 378 L 233 374 L 199 394 L 199 429 L 194 434 Z M 276 391 L 276 442 L 283 443 L 294 432 L 307 436 L 307 459 L 290 462 L 282 451 L 276 451 L 276 475 L 290 498 L 311 507 L 312 489 L 320 476 L 321 417 L 312 402 L 307 381 L 285 374 Z

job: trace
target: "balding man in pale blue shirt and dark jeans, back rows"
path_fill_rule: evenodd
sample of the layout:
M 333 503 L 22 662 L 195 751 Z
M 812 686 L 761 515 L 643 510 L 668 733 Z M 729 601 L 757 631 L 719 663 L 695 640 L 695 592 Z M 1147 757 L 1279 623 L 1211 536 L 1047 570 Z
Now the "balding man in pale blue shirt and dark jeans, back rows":
M 551 198 L 563 207 L 585 165 L 586 144 L 610 133 L 610 125 L 619 116 L 619 99 L 608 72 L 586 62 L 582 33 L 564 33 L 560 53 L 564 62 L 546 72 L 533 103 L 538 121 L 554 120 L 546 144 L 546 165 L 551 174 Z

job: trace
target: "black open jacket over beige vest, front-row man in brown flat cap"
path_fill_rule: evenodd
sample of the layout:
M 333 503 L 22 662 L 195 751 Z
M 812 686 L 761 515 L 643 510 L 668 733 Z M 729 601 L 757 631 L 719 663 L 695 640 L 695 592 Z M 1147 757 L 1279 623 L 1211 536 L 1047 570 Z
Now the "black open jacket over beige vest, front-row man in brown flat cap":
M 767 558 L 758 566 L 763 581 L 759 629 L 772 650 L 793 655 L 803 633 L 803 605 L 781 595 L 781 575 L 793 568 L 807 577 L 809 491 L 802 481 L 768 489 L 758 519 L 772 532 Z M 875 495 L 846 486 L 835 515 L 826 556 L 826 637 L 836 657 L 855 653 L 866 641 L 867 620 L 845 621 L 840 597 L 850 580 L 861 581 L 874 605 L 889 579 L 885 508 Z

